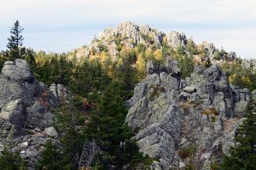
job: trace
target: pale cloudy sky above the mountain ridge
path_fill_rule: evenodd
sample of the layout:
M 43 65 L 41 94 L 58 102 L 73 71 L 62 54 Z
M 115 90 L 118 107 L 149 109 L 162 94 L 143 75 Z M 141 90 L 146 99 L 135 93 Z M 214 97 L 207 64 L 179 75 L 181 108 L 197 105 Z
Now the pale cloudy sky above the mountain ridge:
M 256 0 L 0 0 L 0 49 L 19 19 L 24 45 L 67 52 L 107 26 L 131 21 L 185 32 L 227 51 L 256 58 Z

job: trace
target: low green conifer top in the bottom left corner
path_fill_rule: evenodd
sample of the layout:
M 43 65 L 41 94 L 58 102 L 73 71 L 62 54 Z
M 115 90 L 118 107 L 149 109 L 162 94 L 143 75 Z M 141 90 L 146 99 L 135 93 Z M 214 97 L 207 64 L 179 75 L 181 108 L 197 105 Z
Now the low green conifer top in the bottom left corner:
M 5 146 L 0 155 L 0 168 L 2 170 L 25 170 L 26 163 L 19 155 L 19 151 L 12 151 L 12 148 Z

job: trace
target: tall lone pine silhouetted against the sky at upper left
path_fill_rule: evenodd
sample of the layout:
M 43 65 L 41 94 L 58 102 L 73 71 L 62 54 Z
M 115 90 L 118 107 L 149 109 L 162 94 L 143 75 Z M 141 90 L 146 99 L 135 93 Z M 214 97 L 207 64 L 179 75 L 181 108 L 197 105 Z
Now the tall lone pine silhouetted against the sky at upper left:
M 23 28 L 19 26 L 19 21 L 17 20 L 10 31 L 11 36 L 8 38 L 8 49 L 5 51 L 5 56 L 8 56 L 9 60 L 22 58 L 22 55 L 25 53 L 25 48 L 22 48 L 22 30 Z

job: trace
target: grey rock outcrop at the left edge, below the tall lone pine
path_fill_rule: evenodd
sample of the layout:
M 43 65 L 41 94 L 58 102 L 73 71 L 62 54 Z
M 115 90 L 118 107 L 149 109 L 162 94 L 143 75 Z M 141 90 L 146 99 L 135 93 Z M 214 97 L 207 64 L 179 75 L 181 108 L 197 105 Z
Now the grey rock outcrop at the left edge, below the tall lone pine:
M 5 62 L 0 74 L 0 151 L 12 142 L 13 149 L 19 149 L 28 161 L 29 169 L 44 143 L 57 138 L 51 127 L 52 110 L 61 103 L 61 97 L 67 97 L 67 90 L 59 84 L 55 87 L 49 90 L 37 82 L 29 64 L 22 59 Z

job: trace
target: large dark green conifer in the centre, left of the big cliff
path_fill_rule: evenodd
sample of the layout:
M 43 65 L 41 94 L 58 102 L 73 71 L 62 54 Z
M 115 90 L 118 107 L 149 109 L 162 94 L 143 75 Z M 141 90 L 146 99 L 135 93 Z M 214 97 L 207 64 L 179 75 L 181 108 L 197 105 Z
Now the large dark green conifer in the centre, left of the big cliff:
M 97 107 L 90 113 L 86 135 L 89 140 L 95 139 L 104 151 L 95 162 L 97 166 L 107 168 L 111 164 L 123 168 L 128 162 L 135 164 L 143 159 L 137 145 L 130 141 L 133 134 L 124 122 L 127 113 L 123 104 L 124 91 L 122 83 L 112 81 L 106 90 L 93 98 Z M 124 148 L 120 148 L 120 142 L 124 141 Z

